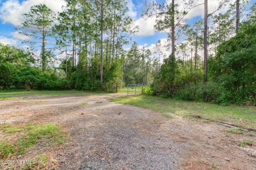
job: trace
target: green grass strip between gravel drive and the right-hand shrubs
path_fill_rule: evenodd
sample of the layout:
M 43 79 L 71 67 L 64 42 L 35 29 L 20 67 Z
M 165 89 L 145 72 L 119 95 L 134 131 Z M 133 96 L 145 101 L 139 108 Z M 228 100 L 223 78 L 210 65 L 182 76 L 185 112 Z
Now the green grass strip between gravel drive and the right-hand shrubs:
M 220 106 L 204 102 L 163 99 L 156 96 L 133 95 L 110 99 L 116 103 L 149 108 L 160 113 L 174 113 L 186 117 L 198 115 L 209 121 L 221 121 L 256 129 L 256 108 L 247 106 Z

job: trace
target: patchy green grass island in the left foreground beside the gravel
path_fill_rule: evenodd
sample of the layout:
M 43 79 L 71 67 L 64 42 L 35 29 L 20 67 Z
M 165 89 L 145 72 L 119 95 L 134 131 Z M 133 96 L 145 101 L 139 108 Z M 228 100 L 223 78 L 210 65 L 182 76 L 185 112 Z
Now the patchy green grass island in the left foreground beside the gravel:
M 30 147 L 38 142 L 45 145 L 58 145 L 65 142 L 68 137 L 60 126 L 53 123 L 36 124 L 33 122 L 26 125 L 3 124 L 0 127 L 8 139 L 0 139 L 0 158 L 13 155 L 25 154 Z

